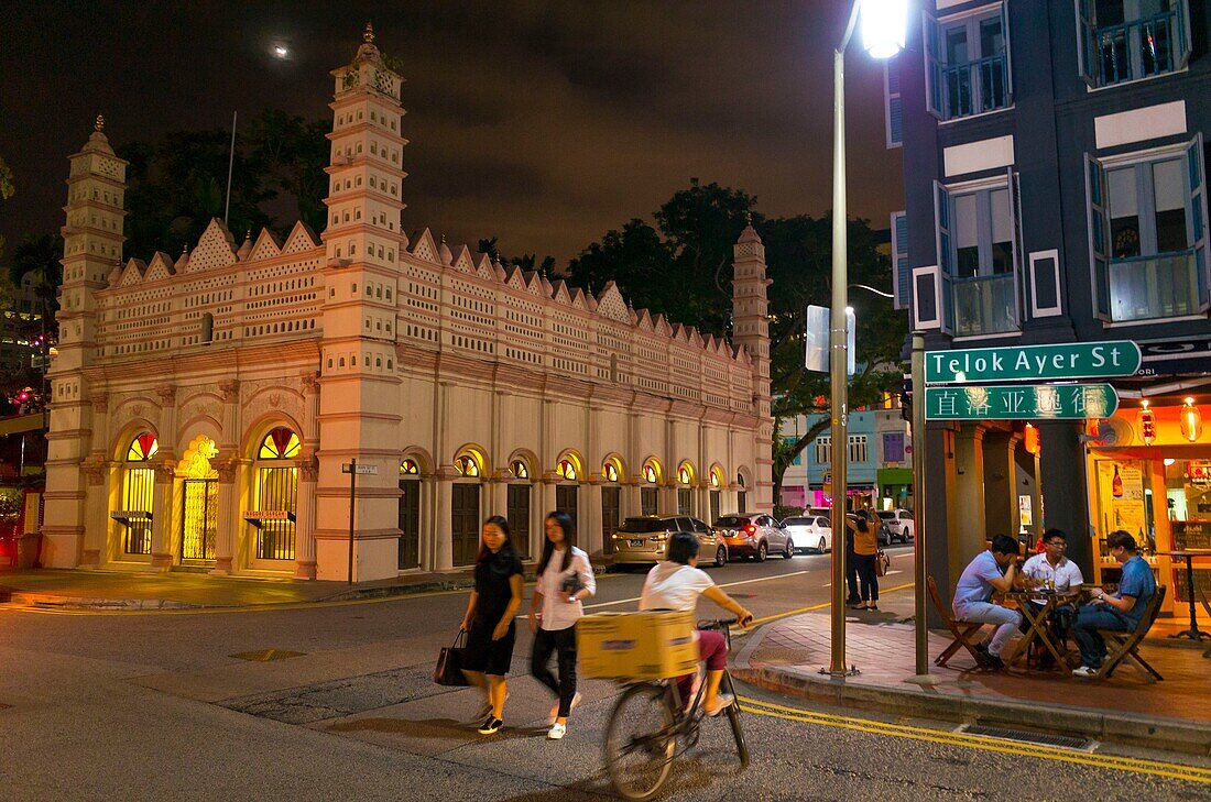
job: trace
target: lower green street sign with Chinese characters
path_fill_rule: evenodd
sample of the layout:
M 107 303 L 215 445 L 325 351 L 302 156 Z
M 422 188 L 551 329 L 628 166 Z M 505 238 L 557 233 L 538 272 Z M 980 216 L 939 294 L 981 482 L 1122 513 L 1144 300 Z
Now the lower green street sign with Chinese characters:
M 925 388 L 929 421 L 1085 420 L 1109 417 L 1118 408 L 1109 385 Z

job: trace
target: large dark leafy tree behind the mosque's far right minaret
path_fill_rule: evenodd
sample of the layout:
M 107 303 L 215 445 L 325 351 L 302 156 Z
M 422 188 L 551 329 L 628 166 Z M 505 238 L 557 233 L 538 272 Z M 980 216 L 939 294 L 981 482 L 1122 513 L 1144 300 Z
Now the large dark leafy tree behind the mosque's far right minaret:
M 781 496 L 786 467 L 828 427 L 827 419 L 787 443 L 779 434 L 785 420 L 828 409 L 828 376 L 803 368 L 804 316 L 808 304 L 830 305 L 832 220 L 797 215 L 765 219 L 754 212 L 757 198 L 718 184 L 690 181 L 687 190 L 654 213 L 659 231 L 639 218 L 610 230 L 572 260 L 568 272 L 578 284 L 597 292 L 615 281 L 627 300 L 662 313 L 671 322 L 693 324 L 702 334 L 730 335 L 733 246 L 748 221 L 765 244 L 769 294 L 770 383 L 775 417 L 774 498 Z M 876 250 L 866 220 L 850 220 L 849 279 L 888 284 L 890 262 Z M 857 375 L 850 381 L 850 406 L 869 405 L 899 381 L 889 373 L 900 358 L 906 321 L 891 302 L 855 293 Z

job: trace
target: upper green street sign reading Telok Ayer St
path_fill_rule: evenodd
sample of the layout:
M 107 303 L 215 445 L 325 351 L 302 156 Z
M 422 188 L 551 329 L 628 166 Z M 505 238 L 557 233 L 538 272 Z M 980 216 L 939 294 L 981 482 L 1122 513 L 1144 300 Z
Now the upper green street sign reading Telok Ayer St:
M 926 351 L 925 383 L 1132 376 L 1140 358 L 1140 346 L 1131 340 Z

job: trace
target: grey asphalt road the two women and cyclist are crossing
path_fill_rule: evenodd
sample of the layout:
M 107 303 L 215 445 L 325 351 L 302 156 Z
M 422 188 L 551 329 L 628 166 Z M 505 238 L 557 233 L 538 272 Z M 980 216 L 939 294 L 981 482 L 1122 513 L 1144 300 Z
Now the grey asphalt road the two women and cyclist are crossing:
M 714 576 L 769 617 L 826 602 L 827 562 L 799 556 L 730 565 Z M 902 576 L 885 582 L 903 584 Z M 631 608 L 641 582 L 604 577 L 593 604 Z M 586 682 L 568 737 L 550 743 L 550 700 L 533 680 L 511 682 L 506 728 L 492 738 L 474 732 L 472 691 L 429 681 L 464 604 L 459 593 L 242 613 L 0 611 L 2 796 L 608 796 L 599 744 L 613 685 Z M 524 673 L 528 636 L 518 640 L 515 669 Z M 285 659 L 231 657 L 269 648 Z M 851 719 L 742 691 L 752 766 L 740 772 L 727 726 L 708 722 L 675 771 L 672 798 L 1201 800 L 1211 790 L 1211 773 L 1199 783 L 1189 767 L 1198 761 L 1188 757 L 1040 756 L 953 735 L 951 725 Z

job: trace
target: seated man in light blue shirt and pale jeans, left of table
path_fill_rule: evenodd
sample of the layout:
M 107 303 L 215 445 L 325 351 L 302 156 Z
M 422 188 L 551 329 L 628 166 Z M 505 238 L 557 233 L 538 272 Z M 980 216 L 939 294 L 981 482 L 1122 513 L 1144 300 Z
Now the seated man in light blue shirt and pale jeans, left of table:
M 980 552 L 963 570 L 954 588 L 954 618 L 986 624 L 997 624 L 992 640 L 976 646 L 988 665 L 1005 668 L 1000 653 L 1022 622 L 1022 613 L 992 604 L 993 593 L 1006 593 L 1014 587 L 1017 573 L 1017 541 L 1008 535 L 997 535 L 992 546 Z

